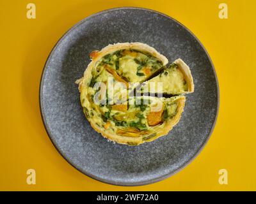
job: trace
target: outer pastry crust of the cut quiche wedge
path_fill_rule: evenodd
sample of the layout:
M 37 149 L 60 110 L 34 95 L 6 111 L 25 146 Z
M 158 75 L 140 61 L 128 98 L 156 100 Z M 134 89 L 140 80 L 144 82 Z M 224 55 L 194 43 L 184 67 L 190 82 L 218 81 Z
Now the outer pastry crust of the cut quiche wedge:
M 189 66 L 182 61 L 182 59 L 176 59 L 174 61 L 175 64 L 177 64 L 177 66 L 179 67 L 180 71 L 182 71 L 185 80 L 188 84 L 188 91 L 186 91 L 185 93 L 191 93 L 194 92 L 194 82 L 193 82 L 193 77 L 191 75 L 191 71 L 189 69 Z

